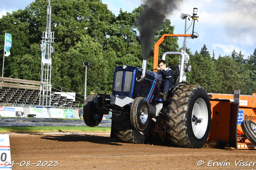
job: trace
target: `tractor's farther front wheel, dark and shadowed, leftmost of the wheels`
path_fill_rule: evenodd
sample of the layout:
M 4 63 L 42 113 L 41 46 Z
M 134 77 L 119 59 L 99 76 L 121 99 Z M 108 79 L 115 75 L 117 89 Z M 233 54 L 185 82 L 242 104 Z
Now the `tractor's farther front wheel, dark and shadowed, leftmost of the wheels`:
M 90 94 L 84 102 L 84 123 L 90 127 L 100 124 L 103 114 L 98 111 L 98 106 L 94 104 L 96 94 Z

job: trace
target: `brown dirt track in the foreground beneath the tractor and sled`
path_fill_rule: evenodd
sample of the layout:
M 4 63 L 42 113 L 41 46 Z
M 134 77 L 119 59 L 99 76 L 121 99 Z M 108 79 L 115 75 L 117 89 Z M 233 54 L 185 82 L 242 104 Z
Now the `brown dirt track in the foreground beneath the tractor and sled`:
M 110 139 L 110 134 L 25 134 L 9 135 L 9 138 L 12 161 L 31 161 L 30 166 L 14 165 L 13 170 L 256 169 L 256 164 L 235 165 L 235 160 L 236 163 L 240 160 L 248 161 L 247 164 L 256 162 L 256 150 L 176 148 L 168 143 L 160 145 L 156 139 L 148 144 L 128 144 Z M 200 160 L 205 162 L 202 166 L 197 165 Z M 208 167 L 211 160 L 213 162 Z M 59 161 L 59 165 L 47 167 L 50 163 L 44 162 L 46 166 L 36 167 L 38 161 L 53 161 L 52 165 L 56 165 L 54 161 Z M 212 166 L 214 162 L 224 162 L 225 165 L 230 162 L 231 166 Z

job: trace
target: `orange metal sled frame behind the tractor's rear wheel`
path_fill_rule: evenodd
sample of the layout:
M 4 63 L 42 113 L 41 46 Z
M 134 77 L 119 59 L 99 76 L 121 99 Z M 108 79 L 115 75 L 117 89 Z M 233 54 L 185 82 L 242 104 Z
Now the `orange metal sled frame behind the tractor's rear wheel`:
M 231 149 L 256 149 L 256 146 L 248 139 L 242 141 L 243 131 L 238 125 L 238 118 L 242 117 L 242 120 L 250 119 L 256 123 L 256 94 L 240 95 L 240 102 L 233 102 L 233 94 L 208 93 L 208 95 L 212 109 L 212 124 L 208 142 L 227 143 Z M 240 117 L 239 111 L 243 112 L 242 117 Z

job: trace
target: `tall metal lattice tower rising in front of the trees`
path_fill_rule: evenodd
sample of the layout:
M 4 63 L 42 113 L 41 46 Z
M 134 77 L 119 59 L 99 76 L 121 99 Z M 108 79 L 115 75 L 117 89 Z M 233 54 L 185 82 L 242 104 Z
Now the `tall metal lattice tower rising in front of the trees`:
M 51 51 L 54 49 L 52 44 L 54 43 L 54 32 L 51 32 L 51 13 L 52 7 L 49 5 L 47 7 L 47 25 L 46 31 L 43 32 L 42 44 L 45 45 L 45 53 L 42 53 L 42 68 L 41 68 L 41 81 L 40 86 L 40 102 L 41 106 L 50 106 L 51 105 L 51 72 L 52 72 L 52 59 Z

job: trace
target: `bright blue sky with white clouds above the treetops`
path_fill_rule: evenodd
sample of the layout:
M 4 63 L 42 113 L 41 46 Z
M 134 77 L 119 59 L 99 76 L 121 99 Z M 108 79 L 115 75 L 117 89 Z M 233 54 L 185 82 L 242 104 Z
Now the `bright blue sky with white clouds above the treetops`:
M 134 8 L 144 4 L 145 0 L 102 0 L 108 5 L 108 9 L 118 16 L 120 8 L 123 11 L 132 12 Z M 193 14 L 193 8 L 198 8 L 198 21 L 194 31 L 199 37 L 187 39 L 187 48 L 194 54 L 206 45 L 209 53 L 219 55 L 231 55 L 235 49 L 237 53 L 242 51 L 244 59 L 256 49 L 256 0 L 176 0 L 178 7 L 166 16 L 174 25 L 174 34 L 184 34 L 185 20 L 181 14 Z M 0 18 L 6 12 L 12 13 L 18 9 L 24 9 L 34 0 L 8 0 L 8 3 L 0 1 Z M 12 5 L 9 5 L 12 4 Z M 187 28 L 191 20 L 187 23 Z M 192 25 L 193 26 L 193 25 Z M 192 26 L 187 34 L 192 34 Z M 183 38 L 178 40 L 182 48 Z

